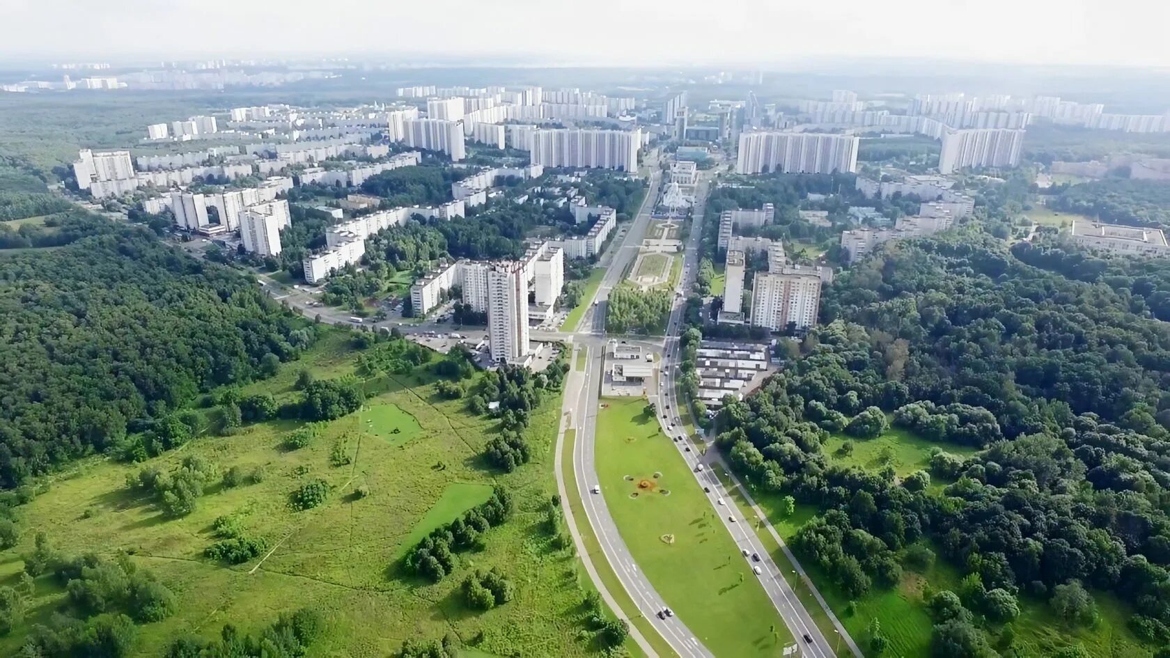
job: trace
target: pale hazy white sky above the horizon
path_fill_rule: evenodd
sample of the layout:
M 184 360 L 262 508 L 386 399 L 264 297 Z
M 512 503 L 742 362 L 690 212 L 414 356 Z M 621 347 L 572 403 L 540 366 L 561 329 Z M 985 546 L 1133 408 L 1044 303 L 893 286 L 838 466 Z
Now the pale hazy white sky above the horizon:
M 350 54 L 534 64 L 801 56 L 1170 67 L 1166 0 L 0 0 L 0 57 Z

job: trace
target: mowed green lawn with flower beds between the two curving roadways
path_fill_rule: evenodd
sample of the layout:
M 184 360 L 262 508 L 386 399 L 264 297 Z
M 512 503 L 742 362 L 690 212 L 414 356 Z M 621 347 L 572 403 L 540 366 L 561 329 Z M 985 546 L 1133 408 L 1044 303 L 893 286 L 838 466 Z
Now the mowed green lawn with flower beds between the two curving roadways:
M 601 403 L 599 484 L 638 567 L 716 656 L 778 656 L 791 642 L 783 621 L 676 448 L 642 413 L 646 400 Z M 654 487 L 639 489 L 640 480 Z

